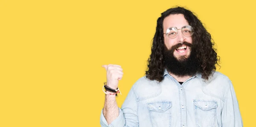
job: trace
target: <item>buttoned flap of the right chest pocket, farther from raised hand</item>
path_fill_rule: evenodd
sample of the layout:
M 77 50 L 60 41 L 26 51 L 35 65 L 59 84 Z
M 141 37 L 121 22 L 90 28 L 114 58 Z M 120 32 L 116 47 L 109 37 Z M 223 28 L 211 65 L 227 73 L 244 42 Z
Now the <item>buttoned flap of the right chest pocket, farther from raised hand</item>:
M 211 110 L 217 108 L 218 104 L 216 101 L 194 101 L 196 107 L 201 108 L 202 110 Z

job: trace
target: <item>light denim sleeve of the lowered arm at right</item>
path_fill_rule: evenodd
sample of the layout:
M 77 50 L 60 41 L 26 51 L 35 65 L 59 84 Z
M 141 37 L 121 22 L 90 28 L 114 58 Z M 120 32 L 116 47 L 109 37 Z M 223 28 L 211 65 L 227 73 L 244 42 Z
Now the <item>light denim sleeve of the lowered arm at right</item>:
M 243 127 L 239 104 L 231 81 L 230 89 L 227 91 L 227 95 L 224 100 L 224 107 L 221 112 L 221 123 L 222 127 Z

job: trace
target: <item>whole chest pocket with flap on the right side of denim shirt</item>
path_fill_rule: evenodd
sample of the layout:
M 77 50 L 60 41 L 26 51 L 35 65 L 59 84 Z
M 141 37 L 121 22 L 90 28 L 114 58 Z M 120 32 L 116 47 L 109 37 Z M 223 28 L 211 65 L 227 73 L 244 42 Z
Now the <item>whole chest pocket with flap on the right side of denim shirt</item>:
M 195 122 L 197 127 L 213 127 L 215 122 L 216 101 L 194 101 Z

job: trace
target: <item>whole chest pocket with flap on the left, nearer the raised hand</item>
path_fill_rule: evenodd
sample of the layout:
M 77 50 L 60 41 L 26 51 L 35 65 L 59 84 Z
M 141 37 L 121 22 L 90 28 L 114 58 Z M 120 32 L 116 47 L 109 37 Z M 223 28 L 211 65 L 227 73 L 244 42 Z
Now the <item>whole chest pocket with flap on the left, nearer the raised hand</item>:
M 171 127 L 171 101 L 156 101 L 147 104 L 149 117 L 153 127 Z

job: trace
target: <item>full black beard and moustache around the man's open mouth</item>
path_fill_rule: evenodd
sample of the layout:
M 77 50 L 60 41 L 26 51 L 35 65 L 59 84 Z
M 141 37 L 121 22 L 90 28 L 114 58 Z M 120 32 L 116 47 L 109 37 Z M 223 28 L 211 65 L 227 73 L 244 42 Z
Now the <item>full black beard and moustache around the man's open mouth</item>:
M 190 48 L 190 55 L 187 57 L 180 56 L 179 58 L 175 58 L 175 50 L 182 45 L 186 45 L 187 48 Z M 163 58 L 167 71 L 178 77 L 195 75 L 200 67 L 200 62 L 196 57 L 195 47 L 188 42 L 178 43 L 172 46 L 171 49 L 167 49 L 165 46 Z

